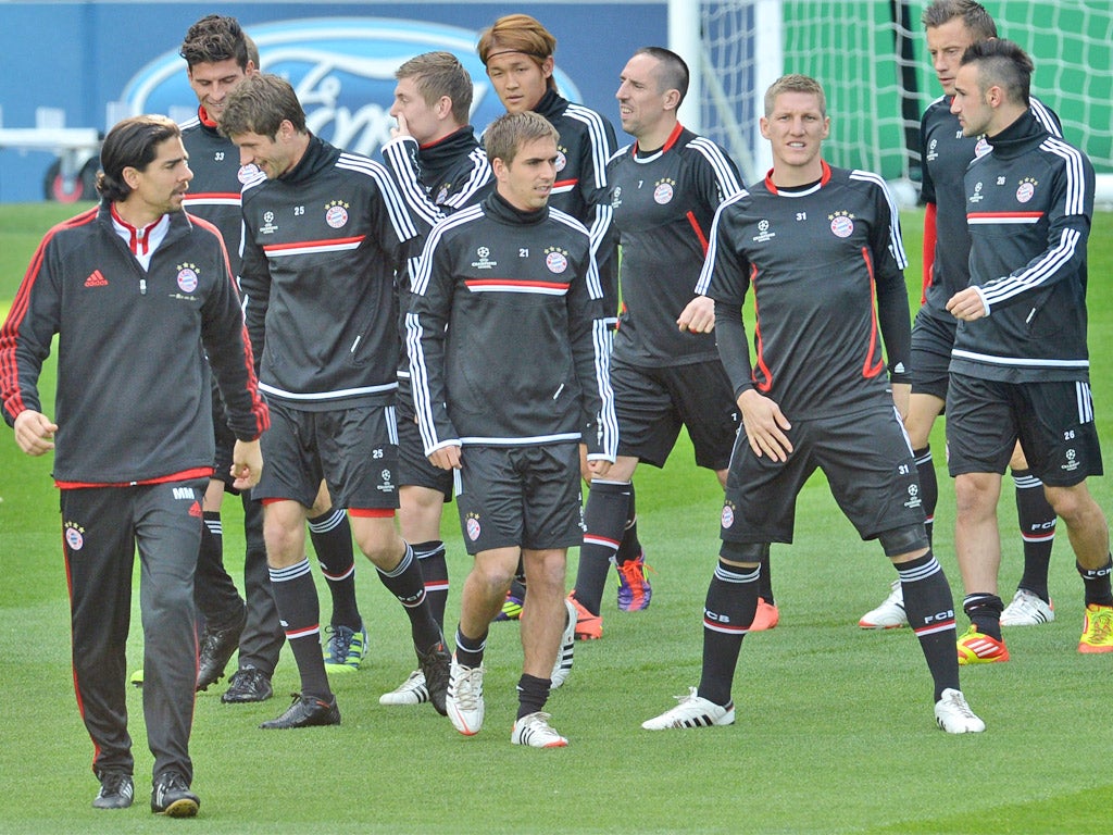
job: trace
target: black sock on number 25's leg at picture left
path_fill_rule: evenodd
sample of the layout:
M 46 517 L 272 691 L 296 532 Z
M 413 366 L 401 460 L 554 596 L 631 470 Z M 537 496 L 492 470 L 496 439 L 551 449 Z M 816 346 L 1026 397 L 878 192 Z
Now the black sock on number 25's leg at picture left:
M 270 587 L 278 605 L 278 616 L 285 623 L 286 640 L 302 676 L 302 695 L 329 701 L 333 694 L 321 649 L 321 603 L 309 571 L 309 560 L 304 559 L 288 568 L 272 568 Z

